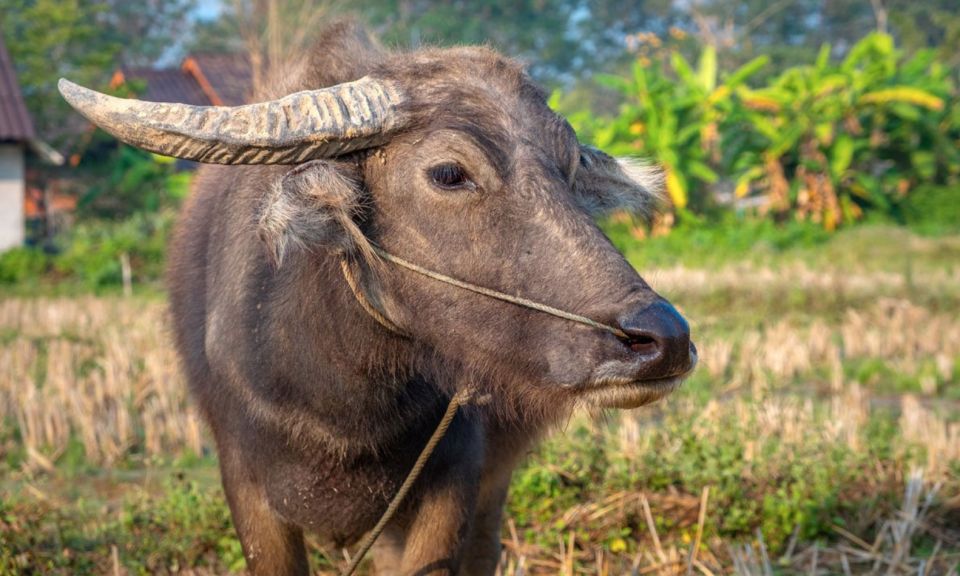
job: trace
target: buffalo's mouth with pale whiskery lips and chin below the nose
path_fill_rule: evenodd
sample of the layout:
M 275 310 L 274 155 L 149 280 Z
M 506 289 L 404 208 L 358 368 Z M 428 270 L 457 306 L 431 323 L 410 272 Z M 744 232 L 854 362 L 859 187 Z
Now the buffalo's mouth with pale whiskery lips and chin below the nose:
M 697 360 L 697 348 L 691 342 L 687 364 L 664 375 L 645 375 L 639 361 L 604 362 L 578 390 L 577 399 L 595 408 L 628 409 L 652 404 L 679 388 L 693 373 Z

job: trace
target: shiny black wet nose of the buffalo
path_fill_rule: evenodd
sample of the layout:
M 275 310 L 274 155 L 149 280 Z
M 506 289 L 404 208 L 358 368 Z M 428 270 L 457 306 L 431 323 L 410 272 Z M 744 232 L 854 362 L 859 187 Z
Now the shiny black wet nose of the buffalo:
M 690 326 L 669 302 L 658 300 L 630 310 L 619 324 L 627 335 L 624 344 L 643 357 L 644 377 L 667 378 L 690 369 Z

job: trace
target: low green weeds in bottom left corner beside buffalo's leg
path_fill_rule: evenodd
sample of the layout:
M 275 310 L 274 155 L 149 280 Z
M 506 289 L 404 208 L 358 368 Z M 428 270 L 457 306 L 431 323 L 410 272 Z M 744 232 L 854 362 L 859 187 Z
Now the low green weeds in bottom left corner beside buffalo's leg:
M 70 510 L 0 500 L 0 575 L 105 574 L 111 548 L 131 574 L 245 565 L 222 493 L 194 481 L 173 478 L 161 495 L 127 496 L 119 510 L 83 498 Z

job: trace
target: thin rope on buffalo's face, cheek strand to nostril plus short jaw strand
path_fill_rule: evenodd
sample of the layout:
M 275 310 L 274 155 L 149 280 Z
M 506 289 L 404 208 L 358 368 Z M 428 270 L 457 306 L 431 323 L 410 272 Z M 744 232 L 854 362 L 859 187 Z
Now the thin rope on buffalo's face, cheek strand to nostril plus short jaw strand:
M 562 318 L 564 320 L 569 320 L 571 322 L 576 322 L 578 324 L 583 324 L 591 328 L 604 330 L 606 332 L 613 334 L 617 338 L 622 338 L 624 340 L 629 339 L 629 335 L 627 335 L 626 332 L 624 332 L 623 330 L 615 326 L 610 326 L 609 324 L 597 322 L 596 320 L 592 320 L 590 318 L 587 318 L 586 316 L 582 316 L 580 314 L 574 314 L 573 312 L 567 312 L 566 310 L 561 310 L 559 308 L 554 308 L 553 306 L 548 306 L 547 304 L 536 302 L 528 298 L 513 296 L 511 294 L 500 292 L 499 290 L 493 290 L 492 288 L 478 286 L 476 284 L 471 284 L 470 282 L 466 282 L 464 280 L 459 280 L 452 276 L 447 276 L 446 274 L 435 272 L 428 268 L 424 268 L 423 266 L 418 266 L 417 264 L 414 264 L 409 260 L 404 260 L 399 256 L 394 256 L 393 254 L 387 252 L 383 248 L 373 243 L 370 244 L 370 247 L 372 248 L 373 252 L 377 256 L 379 256 L 380 258 L 383 258 L 387 262 L 396 264 L 401 268 L 405 268 L 407 270 L 410 270 L 411 272 L 420 274 L 421 276 L 426 276 L 427 278 L 430 278 L 432 280 L 443 282 L 444 284 L 449 284 L 451 286 L 456 286 L 457 288 L 468 290 L 475 294 L 480 294 L 482 296 L 487 296 L 489 298 L 494 298 L 496 300 L 509 302 L 511 304 L 515 304 L 523 308 L 537 310 L 539 312 L 550 314 L 551 316 L 556 316 L 557 318 Z M 363 291 L 360 289 L 360 286 L 353 275 L 353 270 L 350 267 L 350 264 L 346 260 L 341 260 L 340 265 L 341 265 L 341 269 L 343 270 L 343 276 L 344 278 L 346 278 L 347 284 L 350 286 L 350 290 L 353 291 L 353 295 L 356 297 L 357 302 L 359 302 L 360 306 L 367 312 L 367 314 L 369 314 L 380 325 L 382 325 L 384 328 L 387 328 L 391 332 L 394 332 L 400 335 L 405 335 L 404 332 L 396 325 L 395 322 L 391 321 L 389 318 L 387 318 L 383 314 L 383 312 L 375 308 L 370 303 L 370 301 L 366 298 L 366 296 L 363 295 Z

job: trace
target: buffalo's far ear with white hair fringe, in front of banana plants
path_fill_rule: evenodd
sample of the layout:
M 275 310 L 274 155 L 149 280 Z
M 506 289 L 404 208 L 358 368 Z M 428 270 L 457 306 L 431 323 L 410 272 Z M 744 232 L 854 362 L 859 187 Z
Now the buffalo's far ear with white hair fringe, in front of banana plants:
M 594 216 L 624 210 L 649 219 L 663 200 L 663 171 L 581 146 L 573 192 L 577 202 Z

